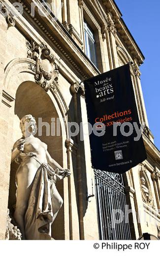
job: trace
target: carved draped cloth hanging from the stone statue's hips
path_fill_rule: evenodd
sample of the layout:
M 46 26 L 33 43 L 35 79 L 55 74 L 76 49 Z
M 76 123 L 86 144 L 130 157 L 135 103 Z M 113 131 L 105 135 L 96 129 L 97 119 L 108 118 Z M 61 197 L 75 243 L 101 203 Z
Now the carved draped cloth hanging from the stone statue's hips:
M 34 159 L 38 161 L 36 157 Z M 27 240 L 51 239 L 51 224 L 53 223 L 52 196 L 55 183 L 55 171 L 49 164 L 40 163 L 32 182 L 32 190 L 25 214 Z

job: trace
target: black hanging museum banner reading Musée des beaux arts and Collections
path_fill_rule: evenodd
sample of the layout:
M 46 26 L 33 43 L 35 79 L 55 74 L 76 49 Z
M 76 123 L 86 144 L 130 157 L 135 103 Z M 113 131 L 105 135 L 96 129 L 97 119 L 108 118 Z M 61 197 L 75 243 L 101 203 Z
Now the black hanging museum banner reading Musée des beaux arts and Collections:
M 84 86 L 88 122 L 93 127 L 92 167 L 123 173 L 144 161 L 147 155 L 129 64 L 87 79 Z

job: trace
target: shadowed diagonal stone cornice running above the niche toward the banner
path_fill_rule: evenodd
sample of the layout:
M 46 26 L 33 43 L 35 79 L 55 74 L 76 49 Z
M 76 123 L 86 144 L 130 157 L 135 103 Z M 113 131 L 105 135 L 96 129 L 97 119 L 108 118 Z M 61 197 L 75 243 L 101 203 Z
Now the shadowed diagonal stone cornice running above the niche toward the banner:
M 31 4 L 30 0 L 18 0 L 24 7 L 23 16 L 28 19 L 31 24 L 34 23 L 34 29 L 40 30 L 46 34 L 47 38 L 50 39 L 59 52 L 64 55 L 64 59 L 68 61 L 79 73 L 83 80 L 93 75 L 99 74 L 97 68 L 91 63 L 83 51 L 76 45 L 70 34 L 64 29 L 63 25 L 59 21 L 53 22 L 53 17 L 50 15 L 45 8 L 43 8 L 46 16 L 40 16 L 38 10 L 35 8 L 34 17 L 31 16 Z M 10 0 L 13 2 L 13 0 Z M 33 0 L 35 4 L 39 4 L 38 0 Z M 20 18 L 20 17 L 19 17 Z M 18 26 L 18 25 L 17 25 Z M 85 70 L 85 73 L 84 73 Z

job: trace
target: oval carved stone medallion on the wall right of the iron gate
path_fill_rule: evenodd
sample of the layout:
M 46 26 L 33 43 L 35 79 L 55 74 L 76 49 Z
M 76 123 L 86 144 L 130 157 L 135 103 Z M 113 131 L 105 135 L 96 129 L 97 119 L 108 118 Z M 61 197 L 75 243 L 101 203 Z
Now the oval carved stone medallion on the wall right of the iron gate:
M 139 167 L 139 179 L 143 202 L 155 208 L 150 182 L 146 174 L 146 166 L 143 163 Z

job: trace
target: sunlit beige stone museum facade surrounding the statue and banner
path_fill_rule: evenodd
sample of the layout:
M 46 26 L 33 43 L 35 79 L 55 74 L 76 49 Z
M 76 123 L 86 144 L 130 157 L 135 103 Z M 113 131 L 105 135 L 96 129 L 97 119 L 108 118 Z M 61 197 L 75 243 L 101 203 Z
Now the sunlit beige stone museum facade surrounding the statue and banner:
M 100 216 L 98 209 L 89 136 L 84 141 L 80 135 L 70 138 L 66 124 L 87 123 L 83 81 L 127 63 L 139 119 L 146 124 L 148 156 L 122 177 L 126 204 L 132 210 L 128 228 L 131 239 L 146 232 L 160 236 L 160 153 L 140 83 L 144 56 L 114 0 L 0 0 L 0 7 L 0 239 L 5 239 L 7 209 L 13 214 L 16 202 L 17 166 L 10 163 L 11 151 L 21 137 L 19 120 L 26 114 L 50 125 L 51 118 L 59 118 L 64 126 L 60 136 L 46 136 L 45 127 L 41 135 L 50 155 L 72 173 L 58 184 L 64 204 L 53 224 L 53 237 L 104 238 L 100 222 L 106 214 Z M 20 15 L 18 7 L 23 9 Z

